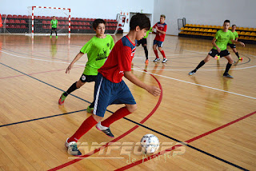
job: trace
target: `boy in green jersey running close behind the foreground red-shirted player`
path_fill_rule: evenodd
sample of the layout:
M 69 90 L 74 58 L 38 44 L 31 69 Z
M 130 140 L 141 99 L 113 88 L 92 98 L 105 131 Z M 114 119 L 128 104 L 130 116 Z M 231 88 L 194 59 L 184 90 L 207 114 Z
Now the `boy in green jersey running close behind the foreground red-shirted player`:
M 110 35 L 105 34 L 106 22 L 102 19 L 96 19 L 93 22 L 93 28 L 96 35 L 82 47 L 80 52 L 74 58 L 73 62 L 66 69 L 66 74 L 70 73 L 70 70 L 74 66 L 74 62 L 77 62 L 83 54 L 87 54 L 88 62 L 86 63 L 85 70 L 78 82 L 74 82 L 73 85 L 67 89 L 66 92 L 62 93 L 58 100 L 59 105 L 63 105 L 68 94 L 73 92 L 75 89 L 79 89 L 86 82 L 95 82 L 98 69 L 103 66 L 106 58 L 110 54 L 110 50 L 114 47 L 114 40 Z M 91 113 L 94 108 L 94 102 L 88 106 L 87 112 Z

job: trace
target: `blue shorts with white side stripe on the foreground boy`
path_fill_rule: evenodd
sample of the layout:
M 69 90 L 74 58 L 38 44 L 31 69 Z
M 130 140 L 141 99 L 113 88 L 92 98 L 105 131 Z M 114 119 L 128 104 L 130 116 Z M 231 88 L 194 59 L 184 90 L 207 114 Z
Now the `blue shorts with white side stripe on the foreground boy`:
M 100 73 L 98 73 L 95 82 L 94 102 L 93 113 L 99 117 L 104 117 L 108 105 L 136 104 L 133 95 L 130 93 L 130 89 L 123 80 L 119 83 L 110 82 Z

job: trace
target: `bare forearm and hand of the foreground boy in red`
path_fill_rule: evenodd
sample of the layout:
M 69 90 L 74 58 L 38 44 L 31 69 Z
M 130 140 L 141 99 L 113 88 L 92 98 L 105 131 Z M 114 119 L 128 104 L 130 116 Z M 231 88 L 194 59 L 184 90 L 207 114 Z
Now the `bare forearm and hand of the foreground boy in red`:
M 154 85 L 146 85 L 144 82 L 136 78 L 134 74 L 131 73 L 131 71 L 125 71 L 124 76 L 130 82 L 134 83 L 134 85 L 138 85 L 139 87 L 142 87 L 142 89 L 146 89 L 149 93 L 151 93 L 154 96 L 158 96 L 161 93 L 161 90 L 158 87 Z

